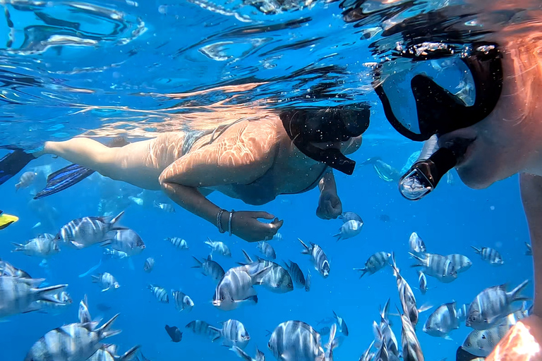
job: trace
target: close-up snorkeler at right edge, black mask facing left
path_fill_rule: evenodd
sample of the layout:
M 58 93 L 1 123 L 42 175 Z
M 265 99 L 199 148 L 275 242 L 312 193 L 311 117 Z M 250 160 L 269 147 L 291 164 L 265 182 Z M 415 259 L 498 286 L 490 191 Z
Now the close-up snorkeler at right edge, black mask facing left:
M 515 1 L 481 4 L 519 13 L 514 8 L 517 5 Z M 539 7 L 540 1 L 535 5 Z M 539 16 L 539 10 L 536 14 Z M 400 181 L 399 190 L 405 197 L 420 199 L 452 167 L 475 189 L 520 174 L 534 256 L 534 307 L 486 361 L 542 360 L 542 20 L 512 20 L 465 51 L 462 66 L 471 73 L 476 90 L 469 105 L 461 94 L 417 73 L 409 83 L 417 109 L 413 116 L 395 104 L 390 90 L 397 83 L 392 78 L 375 85 L 386 116 L 399 133 L 411 140 L 438 138 L 439 150 L 416 163 Z M 439 51 L 441 56 L 442 48 Z M 424 56 L 422 60 L 431 60 L 431 54 Z

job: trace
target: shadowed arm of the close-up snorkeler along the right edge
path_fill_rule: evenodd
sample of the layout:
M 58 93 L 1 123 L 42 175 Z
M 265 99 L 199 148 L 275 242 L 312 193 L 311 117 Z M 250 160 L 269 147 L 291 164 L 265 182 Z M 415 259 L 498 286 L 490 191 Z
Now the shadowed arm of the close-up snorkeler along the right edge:
M 522 201 L 525 210 L 534 262 L 534 313 L 542 315 L 542 177 L 520 176 Z

